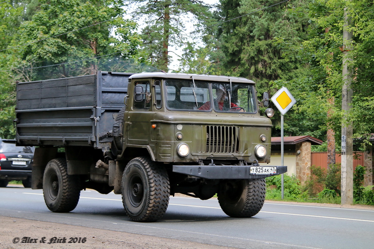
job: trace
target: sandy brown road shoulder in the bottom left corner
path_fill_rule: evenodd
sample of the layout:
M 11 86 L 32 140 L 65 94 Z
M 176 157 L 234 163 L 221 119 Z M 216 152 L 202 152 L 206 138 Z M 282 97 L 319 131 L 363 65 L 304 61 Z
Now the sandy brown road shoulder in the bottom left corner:
M 25 237 L 25 239 L 23 239 Z M 29 237 L 29 239 L 27 239 Z M 45 237 L 43 243 L 43 237 Z M 50 239 L 56 237 L 56 242 Z M 17 242 L 19 238 L 18 243 Z M 65 240 L 64 240 L 65 238 Z M 70 239 L 72 238 L 72 239 Z M 76 240 L 74 238 L 77 238 Z M 81 238 L 79 240 L 79 238 Z M 85 238 L 85 240 L 83 240 Z M 22 239 L 24 242 L 21 243 Z M 36 239 L 36 240 L 34 240 Z M 68 242 L 72 243 L 68 243 Z M 73 243 L 76 241 L 76 243 Z M 80 243 L 79 243 L 80 241 Z M 85 243 L 82 243 L 85 241 Z M 36 243 L 34 243 L 36 242 Z M 0 216 L 0 248 L 5 249 L 233 249 L 177 239 L 103 230 L 77 225 Z

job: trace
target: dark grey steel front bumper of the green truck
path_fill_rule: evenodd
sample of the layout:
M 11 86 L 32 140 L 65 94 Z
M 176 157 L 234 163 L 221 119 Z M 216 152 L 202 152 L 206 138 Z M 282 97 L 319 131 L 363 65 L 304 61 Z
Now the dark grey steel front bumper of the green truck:
M 173 172 L 205 179 L 260 179 L 287 172 L 287 166 L 270 166 L 277 168 L 275 174 L 256 175 L 250 173 L 251 166 L 253 165 L 173 165 Z

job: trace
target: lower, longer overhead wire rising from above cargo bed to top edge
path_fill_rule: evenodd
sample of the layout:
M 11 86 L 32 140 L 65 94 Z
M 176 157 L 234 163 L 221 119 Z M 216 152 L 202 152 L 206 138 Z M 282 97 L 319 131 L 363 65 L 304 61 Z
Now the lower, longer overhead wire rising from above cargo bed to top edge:
M 230 20 L 227 20 L 227 21 L 224 21 L 224 22 L 220 22 L 220 23 L 218 23 L 218 24 L 214 24 L 214 25 L 211 25 L 211 26 L 206 27 L 206 28 L 197 29 L 197 30 L 191 31 L 191 32 L 189 32 L 189 33 L 187 33 L 187 34 L 180 34 L 180 35 L 184 35 L 184 36 L 186 36 L 186 35 L 188 35 L 188 34 L 193 34 L 193 33 L 195 33 L 195 32 L 199 32 L 199 31 L 202 31 L 202 30 L 204 30 L 204 29 L 208 29 L 208 28 L 211 28 L 211 27 L 214 27 L 214 26 L 217 26 L 217 25 L 223 24 L 223 23 L 225 23 L 225 22 L 230 22 L 230 21 L 233 21 L 233 20 L 235 20 L 235 19 L 242 18 L 243 16 L 248 16 L 248 15 L 251 15 L 251 14 L 253 14 L 253 13 L 259 12 L 259 11 L 261 11 L 261 10 L 268 9 L 268 8 L 270 8 L 270 7 L 274 7 L 274 6 L 276 6 L 276 5 L 279 5 L 279 4 L 281 4 L 281 3 L 285 3 L 285 2 L 288 2 L 288 1 L 291 1 L 291 0 L 285 0 L 285 1 L 282 1 L 282 2 L 279 2 L 279 3 L 276 3 L 276 4 L 273 4 L 273 5 L 271 5 L 271 6 L 267 6 L 267 7 L 264 7 L 264 8 L 262 8 L 262 9 L 255 10 L 255 11 L 253 11 L 253 12 L 251 12 L 251 13 L 247 13 L 247 14 L 242 15 L 242 16 L 237 16 L 237 17 L 232 18 L 232 19 L 230 19 Z M 170 38 L 168 38 L 168 39 L 161 40 L 161 41 L 158 41 L 158 42 L 156 42 L 156 43 L 145 44 L 145 45 L 140 46 L 140 47 L 138 47 L 138 48 L 147 47 L 147 46 L 154 45 L 154 44 L 159 44 L 159 43 L 162 43 L 163 41 L 167 41 L 167 40 L 170 40 L 170 39 L 176 39 L 176 38 L 180 37 L 180 35 L 176 35 L 175 37 L 170 37 Z M 37 68 L 47 68 L 47 67 L 50 67 L 50 66 L 59 66 L 59 65 L 69 64 L 69 63 L 82 62 L 82 61 L 85 61 L 85 60 L 97 59 L 97 58 L 104 57 L 104 56 L 109 56 L 109 55 L 115 55 L 115 54 L 118 54 L 118 53 L 123 53 L 123 52 L 126 52 L 126 51 L 128 52 L 128 51 L 135 50 L 135 49 L 136 49 L 136 48 L 131 48 L 131 49 L 122 50 L 122 51 L 120 51 L 120 52 L 116 52 L 116 53 L 110 53 L 110 54 L 107 54 L 107 55 L 101 55 L 101 56 L 91 57 L 91 58 L 88 58 L 88 59 L 75 60 L 75 61 L 71 61 L 71 62 L 64 62 L 64 63 L 54 64 L 54 65 L 48 65 L 48 66 L 37 66 L 37 67 L 34 67 L 34 68 L 23 68 L 23 69 L 24 69 L 24 70 L 29 70 L 29 69 L 37 69 Z M 1 51 L 1 50 L 0 50 L 0 51 Z

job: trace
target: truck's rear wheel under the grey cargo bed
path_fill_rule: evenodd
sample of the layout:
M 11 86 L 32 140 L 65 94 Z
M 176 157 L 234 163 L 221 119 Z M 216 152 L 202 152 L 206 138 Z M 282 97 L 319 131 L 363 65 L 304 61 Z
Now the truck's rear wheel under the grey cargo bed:
M 68 175 L 65 158 L 48 162 L 43 175 L 43 195 L 52 212 L 70 212 L 76 208 L 80 195 L 79 175 Z

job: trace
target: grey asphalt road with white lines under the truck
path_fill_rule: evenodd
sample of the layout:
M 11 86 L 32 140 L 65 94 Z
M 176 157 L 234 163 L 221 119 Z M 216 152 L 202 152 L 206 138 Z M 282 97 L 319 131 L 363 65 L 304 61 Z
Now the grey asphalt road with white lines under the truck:
M 216 199 L 171 197 L 162 220 L 132 222 L 121 196 L 82 191 L 77 208 L 52 213 L 42 190 L 0 188 L 1 215 L 126 231 L 236 248 L 374 248 L 374 211 L 265 203 L 255 217 L 230 218 Z

